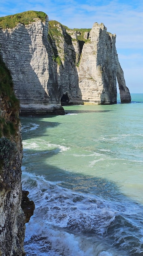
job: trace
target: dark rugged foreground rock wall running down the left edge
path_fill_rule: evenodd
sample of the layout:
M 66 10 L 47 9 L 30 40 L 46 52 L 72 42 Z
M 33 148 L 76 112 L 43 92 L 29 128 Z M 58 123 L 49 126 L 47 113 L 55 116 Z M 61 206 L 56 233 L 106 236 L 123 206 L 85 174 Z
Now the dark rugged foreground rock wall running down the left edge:
M 0 58 L 0 256 L 24 256 L 19 101 Z

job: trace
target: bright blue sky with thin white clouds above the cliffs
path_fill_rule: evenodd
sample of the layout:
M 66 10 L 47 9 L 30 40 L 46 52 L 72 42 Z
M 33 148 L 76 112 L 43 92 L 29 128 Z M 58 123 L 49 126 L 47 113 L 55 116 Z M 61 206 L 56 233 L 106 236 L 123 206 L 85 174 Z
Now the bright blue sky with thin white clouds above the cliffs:
M 119 63 L 130 93 L 143 93 L 143 0 L 4 0 L 0 17 L 23 11 L 43 11 L 49 20 L 69 28 L 104 23 L 116 34 Z

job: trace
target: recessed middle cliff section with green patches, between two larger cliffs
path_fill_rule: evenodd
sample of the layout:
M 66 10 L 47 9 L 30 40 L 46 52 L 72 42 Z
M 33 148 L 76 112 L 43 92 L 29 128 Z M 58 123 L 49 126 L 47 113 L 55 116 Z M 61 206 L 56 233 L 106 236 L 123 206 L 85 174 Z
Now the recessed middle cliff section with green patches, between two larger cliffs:
M 57 62 L 57 81 L 58 90 L 61 95 L 67 94 L 70 103 L 82 103 L 82 96 L 78 86 L 78 72 L 76 70 L 76 62 L 80 58 L 80 47 L 76 39 L 76 32 L 73 38 L 67 34 L 67 31 L 61 24 L 55 22 L 53 28 L 55 34 L 49 35 L 53 49 L 53 55 Z M 56 57 L 57 56 L 57 57 Z

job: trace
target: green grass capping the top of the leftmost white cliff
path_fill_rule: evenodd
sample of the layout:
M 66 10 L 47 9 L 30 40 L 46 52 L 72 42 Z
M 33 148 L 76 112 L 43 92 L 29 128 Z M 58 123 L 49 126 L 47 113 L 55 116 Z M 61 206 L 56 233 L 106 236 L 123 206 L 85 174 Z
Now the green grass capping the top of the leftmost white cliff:
M 47 14 L 42 11 L 24 11 L 14 15 L 0 17 L 0 27 L 2 29 L 13 28 L 17 23 L 28 25 L 31 22 L 35 22 L 35 19 L 45 21 Z

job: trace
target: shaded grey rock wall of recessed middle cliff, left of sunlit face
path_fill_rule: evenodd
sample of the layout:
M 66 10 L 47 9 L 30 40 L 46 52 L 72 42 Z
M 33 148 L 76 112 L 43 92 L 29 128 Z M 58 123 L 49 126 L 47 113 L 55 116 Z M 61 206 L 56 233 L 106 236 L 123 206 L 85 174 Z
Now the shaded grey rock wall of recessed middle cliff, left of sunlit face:
M 58 93 L 61 97 L 61 105 L 82 104 L 82 94 L 78 85 L 78 72 L 76 69 L 76 52 L 72 45 L 72 37 L 67 34 L 63 27 L 61 29 L 64 36 L 64 63 L 61 61 L 61 54 L 58 53 L 55 39 L 48 35 L 48 40 L 52 47 L 51 52 L 54 55 L 54 64 L 51 67 L 55 66 L 57 70 Z M 68 101 L 64 99 L 65 95 L 67 95 Z

